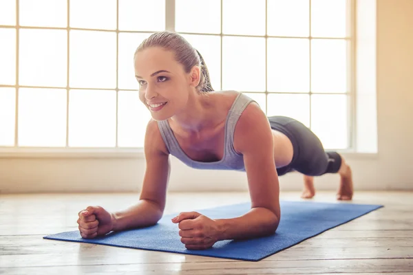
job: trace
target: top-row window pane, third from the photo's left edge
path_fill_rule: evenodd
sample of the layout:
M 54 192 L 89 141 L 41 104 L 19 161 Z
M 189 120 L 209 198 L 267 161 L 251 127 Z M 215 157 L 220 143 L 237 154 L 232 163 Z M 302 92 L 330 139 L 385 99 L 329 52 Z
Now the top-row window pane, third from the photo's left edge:
M 70 27 L 116 30 L 116 0 L 70 0 Z

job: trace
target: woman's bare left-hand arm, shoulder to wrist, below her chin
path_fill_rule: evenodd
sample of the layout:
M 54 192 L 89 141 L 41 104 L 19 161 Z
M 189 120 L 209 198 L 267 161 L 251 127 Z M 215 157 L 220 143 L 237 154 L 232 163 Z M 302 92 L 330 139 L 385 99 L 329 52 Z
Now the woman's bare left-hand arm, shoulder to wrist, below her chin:
M 151 120 L 145 134 L 146 170 L 138 203 L 112 213 L 114 230 L 126 230 L 156 224 L 165 210 L 170 174 L 169 152 L 160 135 L 158 122 Z

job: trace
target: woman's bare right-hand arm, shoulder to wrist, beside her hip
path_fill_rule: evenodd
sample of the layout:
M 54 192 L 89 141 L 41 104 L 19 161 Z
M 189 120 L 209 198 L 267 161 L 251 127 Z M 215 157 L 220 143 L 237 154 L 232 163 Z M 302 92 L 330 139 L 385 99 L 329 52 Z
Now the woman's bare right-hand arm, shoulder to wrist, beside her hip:
M 217 219 L 219 240 L 273 234 L 280 219 L 279 181 L 268 118 L 255 103 L 248 105 L 235 129 L 234 147 L 244 155 L 251 210 L 241 217 Z

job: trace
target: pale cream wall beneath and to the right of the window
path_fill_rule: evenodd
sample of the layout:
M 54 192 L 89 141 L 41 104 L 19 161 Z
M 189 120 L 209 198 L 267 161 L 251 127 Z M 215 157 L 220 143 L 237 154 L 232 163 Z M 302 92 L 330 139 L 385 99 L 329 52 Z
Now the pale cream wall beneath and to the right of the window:
M 368 1 L 368 0 L 359 0 Z M 370 0 L 369 0 L 370 1 Z M 363 78 L 361 72 L 359 78 Z M 366 76 L 368 74 L 366 73 Z M 413 1 L 377 1 L 378 155 L 346 155 L 356 190 L 413 189 Z M 193 170 L 172 161 L 169 190 L 246 190 L 239 172 Z M 0 192 L 139 190 L 142 158 L 0 158 Z M 301 190 L 301 176 L 280 177 Z M 335 190 L 337 175 L 317 178 Z

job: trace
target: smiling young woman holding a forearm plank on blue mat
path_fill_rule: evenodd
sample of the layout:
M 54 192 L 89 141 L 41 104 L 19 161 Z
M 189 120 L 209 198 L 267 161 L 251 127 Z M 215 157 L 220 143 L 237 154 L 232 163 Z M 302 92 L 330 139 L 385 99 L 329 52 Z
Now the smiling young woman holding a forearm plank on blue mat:
M 182 212 L 178 223 L 188 249 L 206 249 L 224 239 L 273 234 L 281 217 L 278 176 L 304 174 L 301 197 L 315 195 L 313 176 L 339 173 L 338 199 L 352 198 L 350 167 L 304 124 L 283 116 L 267 118 L 258 104 L 237 91 L 213 91 L 202 56 L 173 32 L 152 34 L 134 56 L 140 100 L 151 112 L 145 136 L 147 168 L 140 201 L 109 213 L 89 206 L 78 213 L 83 238 L 112 230 L 154 225 L 165 208 L 169 155 L 198 169 L 246 171 L 251 210 L 233 219 Z

